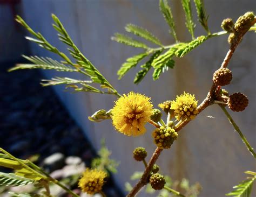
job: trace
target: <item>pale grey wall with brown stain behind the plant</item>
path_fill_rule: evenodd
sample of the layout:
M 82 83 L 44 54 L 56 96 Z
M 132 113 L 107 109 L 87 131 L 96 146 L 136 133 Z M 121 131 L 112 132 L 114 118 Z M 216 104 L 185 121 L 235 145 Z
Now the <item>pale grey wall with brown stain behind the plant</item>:
M 190 36 L 184 26 L 181 5 L 178 0 L 171 1 L 171 4 L 177 22 L 178 38 L 188 41 Z M 254 0 L 242 1 L 242 4 L 241 1 L 234 0 L 205 1 L 205 5 L 210 15 L 209 25 L 212 32 L 221 31 L 220 24 L 224 18 L 236 19 L 246 11 L 255 11 L 256 8 Z M 213 72 L 220 67 L 228 50 L 227 36 L 207 40 L 186 58 L 177 59 L 175 68 L 164 73 L 158 81 L 152 80 L 151 71 L 136 86 L 132 81 L 138 68 L 133 69 L 120 81 L 117 80 L 116 72 L 126 58 L 140 50 L 115 43 L 110 37 L 115 32 L 124 33 L 124 26 L 133 23 L 152 31 L 164 44 L 173 43 L 168 26 L 159 12 L 158 1 L 23 0 L 23 9 L 26 21 L 36 31 L 42 32 L 50 43 L 65 50 L 66 46 L 57 40 L 56 32 L 50 25 L 50 14 L 55 13 L 77 46 L 120 93 L 144 93 L 152 98 L 155 106 L 164 100 L 174 99 L 184 91 L 195 94 L 200 103 L 211 86 Z M 203 29 L 198 24 L 196 35 L 202 33 Z M 250 100 L 245 111 L 231 111 L 231 115 L 253 147 L 256 147 L 255 36 L 255 33 L 248 33 L 235 52 L 230 62 L 233 80 L 227 87 L 230 93 L 245 93 Z M 35 44 L 31 44 L 31 47 L 35 54 L 52 56 Z M 45 75 L 50 78 L 59 76 L 60 73 L 45 72 Z M 68 76 L 84 79 L 83 76 L 75 74 Z M 129 180 L 134 170 L 143 170 L 143 165 L 132 159 L 132 150 L 137 146 L 145 146 L 151 155 L 156 148 L 151 137 L 151 126 L 141 137 L 126 137 L 113 129 L 111 121 L 91 123 L 87 120 L 87 116 L 96 110 L 110 109 L 116 99 L 114 96 L 69 94 L 63 91 L 63 87 L 56 87 L 55 90 L 95 147 L 100 146 L 101 138 L 106 138 L 106 145 L 112 151 L 112 157 L 121 161 L 119 173 L 115 175 L 120 187 Z M 208 115 L 215 118 L 208 118 Z M 161 154 L 157 164 L 163 173 L 170 174 L 174 180 L 186 177 L 191 182 L 199 181 L 203 186 L 201 196 L 208 197 L 224 196 L 231 191 L 232 186 L 246 177 L 244 171 L 255 170 L 255 160 L 218 106 L 207 108 L 188 124 L 180 132 L 172 149 Z

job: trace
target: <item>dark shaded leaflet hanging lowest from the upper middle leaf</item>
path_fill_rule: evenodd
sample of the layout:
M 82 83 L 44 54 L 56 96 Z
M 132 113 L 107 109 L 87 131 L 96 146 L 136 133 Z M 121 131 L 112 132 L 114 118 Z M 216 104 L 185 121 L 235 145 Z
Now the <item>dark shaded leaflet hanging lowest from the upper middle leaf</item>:
M 162 51 L 163 51 L 163 50 L 159 50 L 159 51 L 155 52 L 155 53 L 150 57 L 149 61 L 147 61 L 147 62 L 146 62 L 145 64 L 143 64 L 142 66 L 140 66 L 140 67 L 142 67 L 143 69 L 140 70 L 140 71 L 136 74 L 136 76 L 135 76 L 135 78 L 134 78 L 134 80 L 133 80 L 133 83 L 135 83 L 135 84 L 138 85 L 139 82 L 143 80 L 144 76 L 146 76 L 147 72 L 149 72 L 150 68 L 152 67 L 152 66 L 151 66 L 152 61 L 153 61 L 154 59 L 156 59 L 156 58 L 161 54 Z

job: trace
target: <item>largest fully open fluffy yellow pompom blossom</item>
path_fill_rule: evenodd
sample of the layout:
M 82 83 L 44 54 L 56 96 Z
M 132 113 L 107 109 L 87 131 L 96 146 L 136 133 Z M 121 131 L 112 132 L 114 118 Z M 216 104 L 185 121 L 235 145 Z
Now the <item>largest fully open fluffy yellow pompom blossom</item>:
M 118 98 L 112 109 L 114 127 L 127 136 L 145 133 L 145 124 L 150 120 L 153 105 L 145 95 L 130 92 Z

